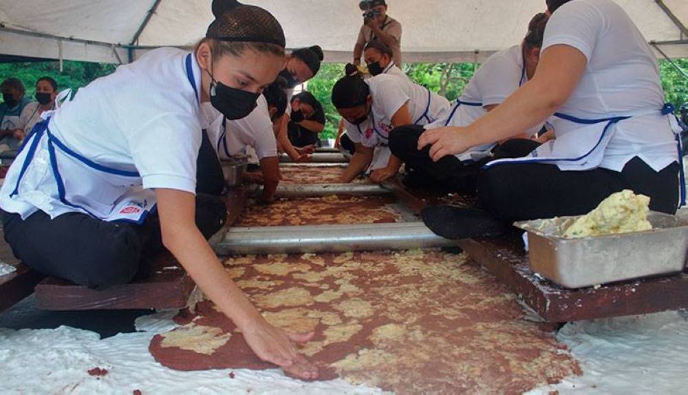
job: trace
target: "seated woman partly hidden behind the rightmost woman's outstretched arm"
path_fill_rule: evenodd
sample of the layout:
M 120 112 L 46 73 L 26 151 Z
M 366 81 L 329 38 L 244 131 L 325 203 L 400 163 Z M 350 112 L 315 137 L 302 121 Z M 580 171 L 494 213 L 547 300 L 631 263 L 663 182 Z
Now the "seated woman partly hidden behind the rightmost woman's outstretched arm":
M 424 127 L 399 128 L 389 139 L 391 152 L 406 163 L 407 175 L 402 182 L 407 188 L 474 195 L 477 172 L 487 161 L 499 157 L 522 157 L 539 145 L 527 138 L 510 139 L 499 147 L 494 141 L 471 147 L 463 153 L 447 155 L 435 162 L 428 155 L 429 147 L 418 150 L 418 139 L 425 129 L 473 123 L 533 78 L 547 19 L 545 13 L 536 14 L 528 23 L 528 33 L 520 45 L 490 56 L 466 85 L 449 117 Z M 534 135 L 540 128 L 538 125 L 523 131 L 522 137 Z

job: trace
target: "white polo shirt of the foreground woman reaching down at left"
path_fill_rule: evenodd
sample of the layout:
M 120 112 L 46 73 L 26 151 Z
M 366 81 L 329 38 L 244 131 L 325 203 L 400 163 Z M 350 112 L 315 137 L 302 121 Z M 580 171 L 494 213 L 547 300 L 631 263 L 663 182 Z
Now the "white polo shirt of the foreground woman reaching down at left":
M 180 49 L 155 49 L 134 63 L 118 67 L 114 74 L 98 78 L 53 115 L 50 132 L 72 151 L 100 166 L 138 172 L 144 189 L 195 193 L 201 131 L 207 125 L 197 94 L 200 69 L 192 54 L 192 85 L 186 69 L 187 55 L 189 52 Z M 43 191 L 41 207 L 52 207 L 44 210 L 51 216 L 78 211 L 59 201 L 51 170 L 43 163 L 45 155 L 41 151 L 45 149 L 45 144 L 39 144 L 23 177 L 31 188 L 21 189 L 10 199 L 28 150 L 14 161 L 0 192 L 3 210 L 28 216 L 37 209 L 22 198 L 23 192 Z M 45 172 L 49 172 L 47 176 Z M 89 177 L 103 174 L 89 170 L 63 177 L 78 177 L 79 183 L 89 183 Z

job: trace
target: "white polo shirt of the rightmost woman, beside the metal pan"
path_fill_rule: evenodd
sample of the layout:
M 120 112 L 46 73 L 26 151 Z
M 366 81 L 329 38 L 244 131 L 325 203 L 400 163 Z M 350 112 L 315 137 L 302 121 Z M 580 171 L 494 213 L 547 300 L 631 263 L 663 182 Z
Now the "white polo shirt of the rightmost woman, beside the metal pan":
M 559 44 L 578 49 L 588 65 L 557 112 L 588 120 L 634 115 L 616 125 L 600 167 L 621 171 L 638 156 L 659 171 L 678 159 L 668 118 L 660 115 L 664 93 L 657 60 L 619 5 L 610 0 L 574 0 L 562 5 L 548 21 L 542 51 Z M 552 123 L 557 140 L 550 146 L 563 142 L 562 135 L 585 127 L 557 118 Z

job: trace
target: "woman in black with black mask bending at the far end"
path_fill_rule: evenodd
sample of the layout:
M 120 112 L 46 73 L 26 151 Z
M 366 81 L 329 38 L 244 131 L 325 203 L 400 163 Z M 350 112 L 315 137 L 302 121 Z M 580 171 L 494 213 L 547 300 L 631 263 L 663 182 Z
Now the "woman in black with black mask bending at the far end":
M 325 129 L 325 111 L 315 96 L 303 91 L 292 96 L 292 114 L 287 131 L 295 147 L 318 146 L 318 133 Z

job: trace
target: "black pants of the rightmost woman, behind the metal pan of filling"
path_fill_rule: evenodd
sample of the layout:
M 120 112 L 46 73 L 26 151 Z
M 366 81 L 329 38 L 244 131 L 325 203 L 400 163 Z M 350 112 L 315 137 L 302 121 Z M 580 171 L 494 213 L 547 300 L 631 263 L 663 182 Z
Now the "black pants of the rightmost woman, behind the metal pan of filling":
M 520 221 L 590 212 L 614 192 L 630 189 L 650 198 L 650 210 L 674 214 L 678 163 L 660 172 L 635 157 L 621 172 L 603 168 L 562 171 L 544 163 L 508 163 L 481 170 L 478 198 L 495 216 Z

